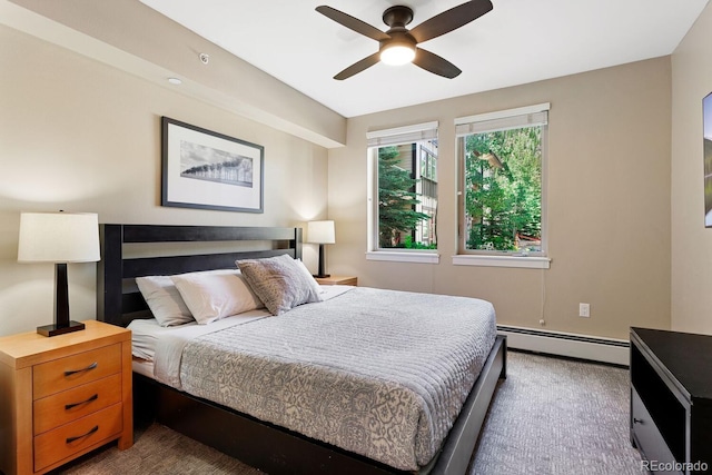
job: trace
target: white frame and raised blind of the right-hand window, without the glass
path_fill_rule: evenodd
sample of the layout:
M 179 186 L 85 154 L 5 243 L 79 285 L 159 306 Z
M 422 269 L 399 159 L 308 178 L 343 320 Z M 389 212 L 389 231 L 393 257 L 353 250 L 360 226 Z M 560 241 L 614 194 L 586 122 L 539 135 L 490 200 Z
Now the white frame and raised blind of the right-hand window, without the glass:
M 534 106 L 506 109 L 494 112 L 478 113 L 474 116 L 459 117 L 455 119 L 455 155 L 457 170 L 457 247 L 456 255 L 453 256 L 453 265 L 459 266 L 493 266 L 493 267 L 522 267 L 547 269 L 551 265 L 548 257 L 548 232 L 547 232 L 547 206 L 546 189 L 548 177 L 548 111 L 551 103 L 544 102 Z M 544 113 L 543 120 L 541 115 Z M 491 127 L 486 127 L 490 122 Z M 496 127 L 501 125 L 502 127 Z M 514 126 L 507 126 L 514 123 Z M 484 126 L 485 130 L 472 131 Z M 541 125 L 542 128 L 542 218 L 541 218 L 541 251 L 522 253 L 506 250 L 486 250 L 466 248 L 466 219 L 465 219 L 465 137 L 485 131 L 505 130 L 506 128 L 522 128 L 527 125 Z M 465 131 L 469 129 L 471 131 Z

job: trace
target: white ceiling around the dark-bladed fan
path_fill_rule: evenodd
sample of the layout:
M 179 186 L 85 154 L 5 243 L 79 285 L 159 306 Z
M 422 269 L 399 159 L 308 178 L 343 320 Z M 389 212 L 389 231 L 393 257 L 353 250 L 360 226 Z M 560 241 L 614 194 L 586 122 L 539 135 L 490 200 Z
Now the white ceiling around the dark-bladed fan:
M 462 69 L 457 78 L 378 63 L 344 81 L 334 75 L 376 52 L 378 43 L 316 12 L 317 6 L 385 31 L 382 14 L 393 4 L 413 8 L 413 28 L 463 0 L 141 2 L 354 117 L 670 55 L 708 0 L 492 0 L 491 12 L 419 44 Z

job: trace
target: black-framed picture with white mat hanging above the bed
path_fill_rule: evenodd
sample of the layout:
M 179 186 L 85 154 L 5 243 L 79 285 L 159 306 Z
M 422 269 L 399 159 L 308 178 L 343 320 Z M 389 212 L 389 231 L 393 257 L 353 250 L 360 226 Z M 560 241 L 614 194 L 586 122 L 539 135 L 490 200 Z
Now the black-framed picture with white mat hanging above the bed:
M 161 118 L 161 205 L 264 211 L 265 148 Z

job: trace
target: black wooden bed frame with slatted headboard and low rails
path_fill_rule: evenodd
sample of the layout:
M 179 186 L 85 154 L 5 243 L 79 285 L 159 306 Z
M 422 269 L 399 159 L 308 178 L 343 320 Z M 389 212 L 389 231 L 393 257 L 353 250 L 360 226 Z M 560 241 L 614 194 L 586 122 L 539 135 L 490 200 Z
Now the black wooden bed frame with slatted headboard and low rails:
M 136 287 L 136 277 L 235 268 L 236 259 L 281 254 L 301 257 L 300 228 L 107 224 L 100 225 L 100 239 L 102 257 L 97 274 L 98 319 L 119 326 L 127 326 L 136 318 L 150 318 L 148 306 Z M 231 246 L 233 241 L 237 250 L 225 253 L 225 246 Z M 241 241 L 259 241 L 264 249 L 241 250 Z M 149 257 L 125 257 L 126 245 L 160 243 L 221 243 L 221 246 L 217 254 L 202 251 L 186 255 L 185 250 L 180 250 L 166 256 L 162 249 L 154 247 L 155 255 Z M 505 376 L 506 337 L 497 336 L 442 451 L 421 474 L 467 473 L 497 382 Z M 137 417 L 157 420 L 270 475 L 409 473 L 194 397 L 136 373 L 134 393 Z

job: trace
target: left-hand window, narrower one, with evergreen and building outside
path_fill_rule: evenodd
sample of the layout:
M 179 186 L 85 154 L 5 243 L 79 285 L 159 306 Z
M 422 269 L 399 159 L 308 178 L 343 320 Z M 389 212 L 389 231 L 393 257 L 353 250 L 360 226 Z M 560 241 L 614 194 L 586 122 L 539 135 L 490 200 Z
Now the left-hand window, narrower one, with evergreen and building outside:
M 433 253 L 437 248 L 437 122 L 368 132 L 367 139 L 369 250 Z

